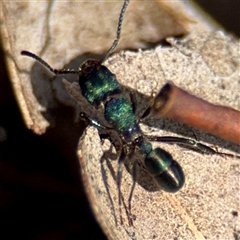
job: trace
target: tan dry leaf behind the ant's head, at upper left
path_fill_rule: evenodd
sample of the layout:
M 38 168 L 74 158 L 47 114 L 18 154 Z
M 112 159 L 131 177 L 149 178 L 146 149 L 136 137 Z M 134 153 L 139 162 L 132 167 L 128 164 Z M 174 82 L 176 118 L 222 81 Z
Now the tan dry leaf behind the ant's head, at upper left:
M 12 86 L 26 126 L 42 134 L 54 125 L 58 104 L 53 75 L 35 60 L 20 55 L 29 50 L 54 68 L 102 55 L 112 44 L 123 1 L 41 1 L 2 3 L 2 37 Z M 124 17 L 120 49 L 146 48 L 168 36 L 187 33 L 192 19 L 181 3 L 133 1 Z M 80 57 L 79 57 L 80 56 Z M 86 57 L 86 56 L 85 56 Z M 59 94 L 59 93 L 58 93 Z M 66 93 L 65 93 L 66 94 Z M 60 98 L 65 98 L 64 91 Z M 63 100 L 64 101 L 64 100 Z

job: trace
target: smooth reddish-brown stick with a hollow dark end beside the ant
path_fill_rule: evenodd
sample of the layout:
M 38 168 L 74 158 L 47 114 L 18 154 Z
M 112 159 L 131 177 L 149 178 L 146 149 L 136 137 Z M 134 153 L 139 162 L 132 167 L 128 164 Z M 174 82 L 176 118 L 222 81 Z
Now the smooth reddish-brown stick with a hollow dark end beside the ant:
M 163 86 L 144 113 L 170 118 L 240 145 L 240 112 L 214 105 L 177 87 Z

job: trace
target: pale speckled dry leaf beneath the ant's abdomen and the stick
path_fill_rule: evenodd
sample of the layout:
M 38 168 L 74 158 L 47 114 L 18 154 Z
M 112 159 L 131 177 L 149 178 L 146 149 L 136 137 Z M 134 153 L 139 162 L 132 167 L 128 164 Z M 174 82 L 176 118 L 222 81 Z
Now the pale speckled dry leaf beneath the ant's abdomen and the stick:
M 212 49 L 223 56 L 221 68 L 228 69 L 224 74 L 215 70 L 219 66 L 216 59 L 211 59 L 214 55 L 204 55 L 208 41 L 213 46 L 224 42 L 221 49 Z M 193 34 L 175 44 L 175 47 L 160 46 L 154 51 L 124 52 L 106 63 L 119 82 L 144 94 L 135 92 L 137 112 L 146 107 L 149 100 L 146 95 L 150 97 L 166 80 L 173 80 L 208 101 L 239 109 L 239 56 L 235 55 L 239 42 L 216 32 Z M 228 54 L 221 51 L 228 51 Z M 217 144 L 217 151 L 240 152 L 237 145 L 163 119 L 152 117 L 142 129 L 158 136 L 196 136 L 213 147 Z M 108 239 L 235 239 L 239 231 L 239 217 L 233 214 L 240 210 L 239 159 L 203 155 L 175 145 L 154 143 L 155 147 L 169 151 L 182 165 L 186 184 L 177 194 L 165 193 L 139 168 L 132 199 L 134 227 L 130 227 L 124 208 L 124 224 L 120 224 L 117 161 L 116 156 L 109 157 L 114 156 L 114 148 L 106 142 L 102 146 L 98 131 L 90 127 L 80 141 L 78 155 L 86 192 Z M 106 149 L 108 155 L 104 154 Z M 132 161 L 126 160 L 125 165 L 131 166 Z M 126 205 L 131 186 L 132 175 L 124 169 L 121 191 Z

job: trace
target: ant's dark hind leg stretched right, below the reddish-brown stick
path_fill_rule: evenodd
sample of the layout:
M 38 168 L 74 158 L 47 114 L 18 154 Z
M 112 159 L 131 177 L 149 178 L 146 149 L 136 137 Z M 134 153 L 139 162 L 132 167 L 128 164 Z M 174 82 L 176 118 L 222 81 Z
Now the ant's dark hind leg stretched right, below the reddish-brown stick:
M 221 156 L 229 156 L 229 157 L 234 157 L 234 154 L 229 154 L 229 153 L 221 153 L 221 152 L 217 152 L 215 151 L 213 148 L 208 147 L 207 145 L 204 145 L 202 143 L 199 143 L 193 139 L 190 138 L 182 138 L 182 137 L 169 137 L 169 136 L 163 136 L 163 137 L 159 137 L 159 136 L 146 136 L 146 138 L 149 141 L 156 141 L 156 142 L 165 142 L 165 143 L 175 143 L 175 144 L 180 144 L 180 145 L 185 145 L 188 147 L 191 147 L 195 150 L 198 150 L 202 153 L 205 154 L 218 154 Z M 237 158 L 239 158 L 240 156 L 236 156 Z

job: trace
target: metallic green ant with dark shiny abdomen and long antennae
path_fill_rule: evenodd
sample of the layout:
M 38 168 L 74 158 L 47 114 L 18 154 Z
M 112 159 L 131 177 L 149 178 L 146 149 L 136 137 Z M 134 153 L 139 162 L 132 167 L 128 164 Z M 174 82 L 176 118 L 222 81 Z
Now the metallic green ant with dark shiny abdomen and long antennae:
M 143 155 L 143 165 L 145 170 L 153 177 L 157 185 L 162 190 L 175 193 L 184 185 L 185 176 L 179 163 L 175 161 L 171 154 L 164 149 L 159 147 L 153 149 L 151 141 L 185 144 L 203 153 L 221 154 L 192 139 L 179 137 L 155 137 L 143 134 L 139 126 L 140 120 L 137 119 L 135 114 L 133 97 L 130 96 L 130 101 L 123 97 L 121 86 L 117 81 L 116 76 L 102 65 L 108 56 L 114 51 L 120 40 L 123 16 L 129 2 L 130 0 L 124 1 L 119 16 L 116 39 L 100 61 L 89 59 L 85 61 L 78 70 L 57 70 L 53 69 L 49 66 L 49 64 L 35 54 L 28 51 L 21 52 L 22 55 L 36 59 L 56 75 L 77 74 L 79 76 L 79 86 L 82 96 L 92 106 L 96 108 L 103 108 L 104 118 L 108 125 L 111 126 L 110 128 L 109 126 L 104 126 L 103 124 L 98 123 L 95 119 L 91 119 L 85 113 L 81 113 L 81 117 L 96 128 L 105 129 L 106 131 L 115 131 L 119 136 L 120 147 L 116 148 L 119 153 L 117 170 L 119 206 L 121 206 L 122 201 L 122 165 L 127 157 L 132 157 L 132 154 L 136 149 L 138 149 Z M 106 134 L 101 137 L 109 138 L 109 135 Z M 111 142 L 116 147 L 112 140 Z M 133 168 L 133 187 L 128 200 L 129 214 L 131 213 L 131 198 L 136 182 L 135 168 L 136 166 Z

